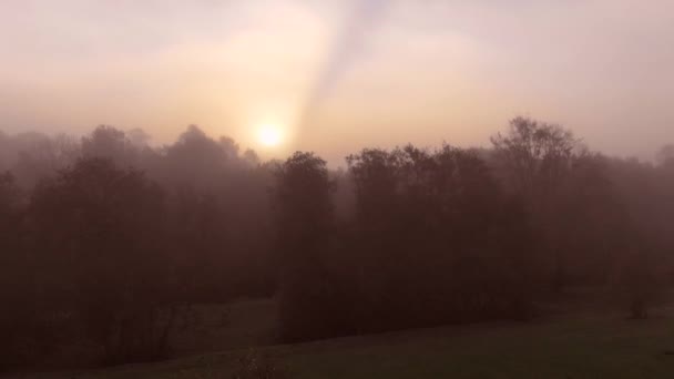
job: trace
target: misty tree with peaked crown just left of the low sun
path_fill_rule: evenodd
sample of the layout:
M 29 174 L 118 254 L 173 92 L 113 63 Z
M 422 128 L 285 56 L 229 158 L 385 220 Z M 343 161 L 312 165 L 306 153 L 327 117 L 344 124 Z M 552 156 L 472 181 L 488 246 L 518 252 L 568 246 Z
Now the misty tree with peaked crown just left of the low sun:
M 254 156 L 241 156 L 232 139 L 214 140 L 191 125 L 149 170 L 166 190 L 175 254 L 198 276 L 192 294 L 203 300 L 273 290 L 267 187 L 274 180 Z

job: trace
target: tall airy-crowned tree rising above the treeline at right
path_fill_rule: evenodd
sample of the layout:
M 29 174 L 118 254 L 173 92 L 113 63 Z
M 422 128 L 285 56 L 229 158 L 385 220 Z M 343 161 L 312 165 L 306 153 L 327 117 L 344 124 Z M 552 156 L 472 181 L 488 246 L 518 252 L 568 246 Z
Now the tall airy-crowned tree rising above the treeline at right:
M 602 157 L 570 131 L 524 117 L 491 141 L 506 188 L 521 198 L 531 218 L 540 269 L 549 272 L 552 288 L 560 291 L 592 276 L 589 269 L 606 268 L 622 218 Z

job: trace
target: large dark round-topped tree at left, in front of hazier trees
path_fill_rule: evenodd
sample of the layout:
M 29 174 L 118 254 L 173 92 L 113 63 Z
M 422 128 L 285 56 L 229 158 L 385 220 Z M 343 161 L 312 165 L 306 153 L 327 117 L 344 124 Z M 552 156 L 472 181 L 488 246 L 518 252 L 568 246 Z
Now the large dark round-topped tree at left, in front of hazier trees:
M 175 317 L 161 190 L 134 170 L 88 158 L 33 193 L 41 291 L 74 313 L 111 362 L 156 359 Z

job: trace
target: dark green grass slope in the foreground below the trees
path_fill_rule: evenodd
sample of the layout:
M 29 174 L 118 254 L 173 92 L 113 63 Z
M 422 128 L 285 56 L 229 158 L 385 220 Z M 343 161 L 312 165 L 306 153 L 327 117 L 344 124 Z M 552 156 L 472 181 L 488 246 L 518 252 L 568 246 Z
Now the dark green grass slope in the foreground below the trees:
M 266 314 L 268 307 L 257 301 L 241 309 Z M 263 342 L 268 317 L 244 316 L 236 317 L 248 322 L 248 338 Z M 229 337 L 243 339 L 245 332 Z M 292 378 L 674 378 L 674 311 L 645 321 L 571 314 L 532 324 L 418 329 L 257 350 L 275 357 Z M 23 377 L 229 378 L 248 351 L 234 348 L 166 362 Z

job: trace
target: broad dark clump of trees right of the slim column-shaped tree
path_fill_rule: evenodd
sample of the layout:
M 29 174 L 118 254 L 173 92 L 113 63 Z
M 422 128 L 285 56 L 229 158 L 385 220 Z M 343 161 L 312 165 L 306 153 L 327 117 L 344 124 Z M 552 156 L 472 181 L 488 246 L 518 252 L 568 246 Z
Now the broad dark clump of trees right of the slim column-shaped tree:
M 528 317 L 525 222 L 474 152 L 408 145 L 348 163 L 357 329 Z

